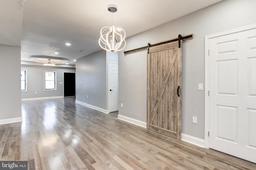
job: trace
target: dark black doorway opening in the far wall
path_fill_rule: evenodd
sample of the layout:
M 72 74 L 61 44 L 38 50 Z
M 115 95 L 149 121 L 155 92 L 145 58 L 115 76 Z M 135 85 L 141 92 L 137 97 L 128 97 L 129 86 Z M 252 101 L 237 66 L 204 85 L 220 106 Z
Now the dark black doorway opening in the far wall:
M 64 97 L 76 96 L 76 73 L 64 73 Z

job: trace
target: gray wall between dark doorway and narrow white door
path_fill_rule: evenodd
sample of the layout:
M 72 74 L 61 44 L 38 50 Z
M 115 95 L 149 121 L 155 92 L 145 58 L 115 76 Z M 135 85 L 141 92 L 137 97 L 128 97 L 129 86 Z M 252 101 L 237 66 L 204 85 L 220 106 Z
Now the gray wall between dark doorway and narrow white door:
M 105 50 L 76 60 L 77 101 L 107 110 L 106 82 Z

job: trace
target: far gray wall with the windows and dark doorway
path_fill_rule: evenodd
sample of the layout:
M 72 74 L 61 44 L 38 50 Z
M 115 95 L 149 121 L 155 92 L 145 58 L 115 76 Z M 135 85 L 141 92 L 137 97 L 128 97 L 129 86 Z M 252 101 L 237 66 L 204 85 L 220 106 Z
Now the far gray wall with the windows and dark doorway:
M 63 72 L 76 72 L 75 68 L 60 68 L 37 65 L 21 65 L 22 70 L 27 70 L 27 91 L 21 92 L 22 99 L 56 97 L 63 94 Z M 44 71 L 56 71 L 56 90 L 44 90 Z M 60 81 L 59 81 L 60 80 Z M 62 82 L 62 84 L 60 84 Z M 37 92 L 37 94 L 35 94 Z

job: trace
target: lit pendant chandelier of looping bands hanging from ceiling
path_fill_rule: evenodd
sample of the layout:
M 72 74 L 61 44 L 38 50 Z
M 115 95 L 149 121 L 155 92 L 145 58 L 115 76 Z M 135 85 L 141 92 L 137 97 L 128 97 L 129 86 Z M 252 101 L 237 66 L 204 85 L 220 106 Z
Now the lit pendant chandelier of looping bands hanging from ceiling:
M 117 6 L 109 5 L 108 11 L 112 13 L 116 12 Z M 112 18 L 112 27 L 105 26 L 100 30 L 99 45 L 106 51 L 120 51 L 124 49 L 126 45 L 124 38 L 124 30 L 122 28 L 114 27 Z

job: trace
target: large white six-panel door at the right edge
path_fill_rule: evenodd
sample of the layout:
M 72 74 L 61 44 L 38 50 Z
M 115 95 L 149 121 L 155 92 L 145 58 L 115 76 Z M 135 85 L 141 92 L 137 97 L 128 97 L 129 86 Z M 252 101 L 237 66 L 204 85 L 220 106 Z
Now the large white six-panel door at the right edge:
M 209 147 L 256 163 L 256 29 L 209 44 Z

